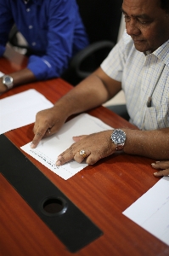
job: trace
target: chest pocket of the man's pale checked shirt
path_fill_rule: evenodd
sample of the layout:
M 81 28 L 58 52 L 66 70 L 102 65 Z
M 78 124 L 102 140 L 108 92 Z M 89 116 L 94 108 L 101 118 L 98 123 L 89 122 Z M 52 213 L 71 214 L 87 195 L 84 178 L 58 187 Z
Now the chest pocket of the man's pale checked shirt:
M 156 130 L 169 127 L 169 104 L 146 108 L 144 130 Z

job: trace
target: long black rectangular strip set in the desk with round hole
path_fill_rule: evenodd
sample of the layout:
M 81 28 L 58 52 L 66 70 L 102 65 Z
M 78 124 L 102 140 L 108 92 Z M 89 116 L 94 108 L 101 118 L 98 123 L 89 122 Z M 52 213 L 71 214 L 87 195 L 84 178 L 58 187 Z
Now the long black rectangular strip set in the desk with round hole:
M 71 253 L 103 234 L 4 135 L 0 135 L 0 155 L 3 176 Z

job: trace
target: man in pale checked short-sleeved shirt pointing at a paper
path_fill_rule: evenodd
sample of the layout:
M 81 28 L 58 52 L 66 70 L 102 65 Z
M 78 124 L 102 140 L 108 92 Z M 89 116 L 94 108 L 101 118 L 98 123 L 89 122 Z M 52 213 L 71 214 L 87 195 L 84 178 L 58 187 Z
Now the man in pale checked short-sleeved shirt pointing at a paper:
M 121 89 L 130 121 L 139 130 L 122 128 L 75 137 L 76 143 L 59 155 L 57 166 L 72 159 L 82 162 L 84 158 L 93 165 L 116 150 L 168 160 L 169 2 L 123 0 L 122 12 L 126 32 L 121 41 L 101 67 L 56 102 L 54 108 L 37 113 L 31 148 L 49 136 L 48 129 L 50 135 L 54 134 L 71 114 L 95 108 Z M 169 171 L 155 172 L 155 176 L 162 175 L 169 175 Z

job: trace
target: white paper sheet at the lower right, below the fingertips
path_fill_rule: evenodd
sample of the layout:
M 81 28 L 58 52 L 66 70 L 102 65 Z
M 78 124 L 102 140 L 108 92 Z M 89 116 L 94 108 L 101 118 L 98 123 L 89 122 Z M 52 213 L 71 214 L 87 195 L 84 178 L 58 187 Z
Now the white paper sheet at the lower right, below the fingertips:
M 169 246 L 169 177 L 162 177 L 122 213 Z

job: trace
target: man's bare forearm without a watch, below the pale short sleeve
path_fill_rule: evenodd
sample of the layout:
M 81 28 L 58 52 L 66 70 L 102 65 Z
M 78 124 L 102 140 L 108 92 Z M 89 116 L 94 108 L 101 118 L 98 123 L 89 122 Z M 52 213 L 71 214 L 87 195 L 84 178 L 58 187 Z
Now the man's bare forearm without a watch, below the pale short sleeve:
M 110 100 L 112 96 L 115 96 L 121 90 L 121 83 L 110 78 L 107 79 L 107 77 L 106 80 L 104 75 L 104 72 L 99 68 L 56 102 L 55 107 L 62 108 L 70 116 L 71 114 L 96 108 Z

